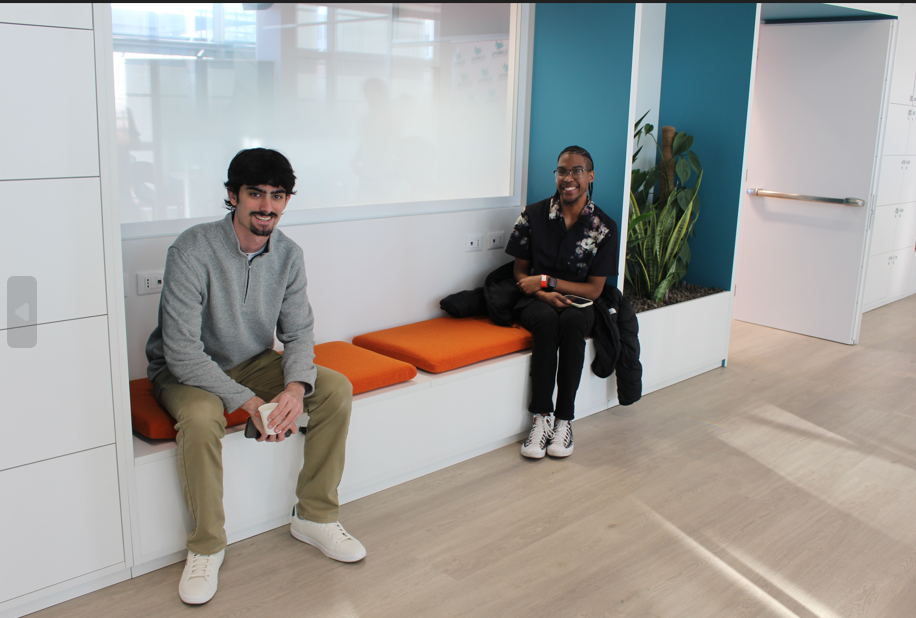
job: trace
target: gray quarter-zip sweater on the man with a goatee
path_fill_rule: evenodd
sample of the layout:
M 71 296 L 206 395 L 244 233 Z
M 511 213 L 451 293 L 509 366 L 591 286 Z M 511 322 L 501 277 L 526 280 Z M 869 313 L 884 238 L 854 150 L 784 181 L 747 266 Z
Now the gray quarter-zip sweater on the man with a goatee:
M 232 213 L 183 232 L 165 261 L 159 325 L 146 344 L 150 381 L 168 366 L 182 384 L 222 399 L 234 411 L 254 397 L 225 371 L 283 343 L 287 384 L 315 387 L 314 318 L 306 295 L 302 249 L 275 229 L 248 262 Z

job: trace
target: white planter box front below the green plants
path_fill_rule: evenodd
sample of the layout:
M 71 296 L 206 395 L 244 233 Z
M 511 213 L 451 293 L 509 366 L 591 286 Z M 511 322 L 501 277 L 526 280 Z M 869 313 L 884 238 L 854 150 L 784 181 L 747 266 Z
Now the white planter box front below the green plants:
M 643 395 L 724 365 L 731 302 L 721 292 L 636 315 Z

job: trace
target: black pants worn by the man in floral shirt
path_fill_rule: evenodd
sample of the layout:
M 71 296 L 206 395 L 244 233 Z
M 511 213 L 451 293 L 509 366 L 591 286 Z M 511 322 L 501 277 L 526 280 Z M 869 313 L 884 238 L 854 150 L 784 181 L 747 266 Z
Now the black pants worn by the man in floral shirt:
M 595 307 L 569 307 L 558 311 L 547 303 L 532 300 L 521 310 L 518 321 L 534 336 L 528 411 L 536 414 L 554 412 L 558 419 L 571 421 L 576 413 L 576 391 L 585 362 L 585 337 L 595 324 Z M 556 410 L 553 406 L 554 380 Z

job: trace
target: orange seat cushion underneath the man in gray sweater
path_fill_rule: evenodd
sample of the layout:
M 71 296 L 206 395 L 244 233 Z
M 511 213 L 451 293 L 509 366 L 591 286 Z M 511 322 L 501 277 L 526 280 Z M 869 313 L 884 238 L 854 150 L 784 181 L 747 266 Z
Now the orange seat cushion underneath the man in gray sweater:
M 315 364 L 338 371 L 353 384 L 353 394 L 412 380 L 417 368 L 407 363 L 370 352 L 343 341 L 315 346 Z M 130 381 L 130 417 L 134 431 L 153 440 L 174 440 L 175 419 L 153 397 L 153 384 L 146 378 Z M 240 425 L 248 413 L 236 410 L 226 414 L 226 426 Z

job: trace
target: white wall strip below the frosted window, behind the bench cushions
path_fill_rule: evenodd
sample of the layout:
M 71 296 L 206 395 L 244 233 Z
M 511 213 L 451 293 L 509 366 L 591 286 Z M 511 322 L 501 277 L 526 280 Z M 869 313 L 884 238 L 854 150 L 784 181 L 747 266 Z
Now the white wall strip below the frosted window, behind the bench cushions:
M 227 162 L 228 164 L 228 162 Z M 293 162 L 295 165 L 295 162 Z M 294 200 L 307 199 L 300 193 Z M 470 233 L 508 233 L 520 209 L 365 219 L 282 227 L 302 247 L 315 340 L 355 335 L 446 315 L 439 301 L 483 285 L 511 260 L 504 249 L 466 253 Z M 130 379 L 146 376 L 144 347 L 156 326 L 159 295 L 137 296 L 136 273 L 162 270 L 174 236 L 122 242 Z

